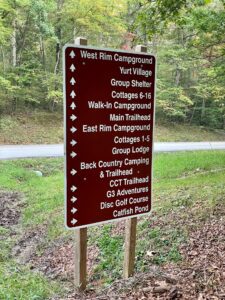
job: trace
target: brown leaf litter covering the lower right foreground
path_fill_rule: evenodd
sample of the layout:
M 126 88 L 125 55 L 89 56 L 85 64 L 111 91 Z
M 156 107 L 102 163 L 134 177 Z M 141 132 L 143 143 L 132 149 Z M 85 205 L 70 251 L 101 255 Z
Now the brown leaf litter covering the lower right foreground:
M 211 218 L 181 245 L 181 264 L 149 267 L 146 273 L 138 273 L 128 280 L 117 280 L 100 292 L 89 289 L 84 294 L 72 293 L 54 300 L 224 300 L 224 232 L 224 217 Z

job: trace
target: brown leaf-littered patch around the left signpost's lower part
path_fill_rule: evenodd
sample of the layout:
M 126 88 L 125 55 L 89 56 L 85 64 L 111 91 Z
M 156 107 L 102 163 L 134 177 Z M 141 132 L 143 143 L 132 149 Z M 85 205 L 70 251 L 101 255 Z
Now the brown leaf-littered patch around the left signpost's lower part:
M 96 246 L 88 247 L 87 272 L 88 277 L 93 274 L 98 262 L 99 250 Z M 36 256 L 31 261 L 33 267 L 43 272 L 51 279 L 74 280 L 74 242 L 60 242 L 48 248 L 41 256 Z

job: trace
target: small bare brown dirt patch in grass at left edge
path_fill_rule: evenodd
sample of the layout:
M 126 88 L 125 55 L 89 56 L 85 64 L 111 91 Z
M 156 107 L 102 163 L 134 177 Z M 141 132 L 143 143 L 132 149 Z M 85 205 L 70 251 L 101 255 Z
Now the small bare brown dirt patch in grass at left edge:
M 19 223 L 23 206 L 21 194 L 0 191 L 0 226 L 9 228 Z

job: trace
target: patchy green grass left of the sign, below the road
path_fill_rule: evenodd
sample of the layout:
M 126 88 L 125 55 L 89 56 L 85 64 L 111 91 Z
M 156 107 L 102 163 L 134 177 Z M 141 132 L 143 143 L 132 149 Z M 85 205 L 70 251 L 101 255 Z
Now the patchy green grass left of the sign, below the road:
M 40 169 L 40 166 L 43 166 L 41 169 L 44 170 L 47 163 L 47 160 L 0 163 L 0 190 L 15 190 L 25 195 L 26 207 L 17 231 L 25 233 L 29 228 L 35 228 L 46 222 L 49 217 L 46 215 L 46 211 L 51 214 L 63 203 L 62 183 L 60 182 L 63 175 L 62 173 L 59 175 L 60 169 L 55 172 L 55 164 L 61 165 L 62 161 L 51 160 L 49 163 L 52 174 L 57 173 L 51 179 L 47 176 L 37 177 L 33 172 L 37 168 Z M 50 185 L 51 194 L 46 188 Z M 62 232 L 63 218 L 61 218 L 61 222 Z M 50 219 L 49 228 L 51 228 L 51 223 L 53 221 Z M 54 234 L 52 237 L 46 237 L 46 243 L 47 240 L 56 238 L 56 233 L 54 232 Z M 61 294 L 61 291 L 64 290 L 62 286 L 48 280 L 42 274 L 32 272 L 29 266 L 21 266 L 12 259 L 11 249 L 15 242 L 15 237 L 10 236 L 9 229 L 0 227 L 0 299 L 41 300 L 48 299 L 54 294 Z

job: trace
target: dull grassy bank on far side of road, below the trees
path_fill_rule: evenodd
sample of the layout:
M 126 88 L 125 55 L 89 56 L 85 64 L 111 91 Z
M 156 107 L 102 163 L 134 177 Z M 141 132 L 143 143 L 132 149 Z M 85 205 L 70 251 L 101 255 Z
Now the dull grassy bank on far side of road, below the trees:
M 0 144 L 63 143 L 62 113 L 36 111 L 12 116 L 0 115 L 0 131 Z M 225 141 L 225 131 L 157 122 L 155 125 L 155 141 Z

